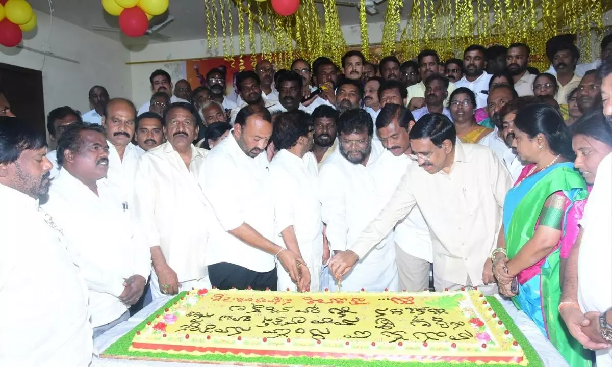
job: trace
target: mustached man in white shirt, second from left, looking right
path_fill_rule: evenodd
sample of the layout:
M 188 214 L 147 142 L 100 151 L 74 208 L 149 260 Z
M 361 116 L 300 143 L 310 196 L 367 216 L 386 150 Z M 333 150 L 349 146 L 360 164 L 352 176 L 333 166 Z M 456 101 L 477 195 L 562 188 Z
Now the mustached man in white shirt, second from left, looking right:
M 104 129 L 75 124 L 58 142 L 62 167 L 42 209 L 62 229 L 70 255 L 89 289 L 94 338 L 129 319 L 151 272 L 146 235 L 104 178 Z

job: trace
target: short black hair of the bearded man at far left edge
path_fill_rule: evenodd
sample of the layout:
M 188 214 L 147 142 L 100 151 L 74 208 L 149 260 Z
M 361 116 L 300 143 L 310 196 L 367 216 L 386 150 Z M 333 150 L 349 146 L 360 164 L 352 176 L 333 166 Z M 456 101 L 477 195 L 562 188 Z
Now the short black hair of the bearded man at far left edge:
M 20 117 L 0 116 L 0 163 L 17 161 L 24 150 L 47 146 L 47 138 Z

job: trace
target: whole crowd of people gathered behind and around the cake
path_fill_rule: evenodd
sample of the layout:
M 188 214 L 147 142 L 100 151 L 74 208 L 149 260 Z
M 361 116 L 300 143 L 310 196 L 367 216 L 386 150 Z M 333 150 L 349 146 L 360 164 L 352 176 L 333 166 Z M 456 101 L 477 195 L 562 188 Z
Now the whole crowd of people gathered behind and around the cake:
M 53 109 L 54 150 L 3 99 L 0 361 L 86 366 L 192 287 L 418 292 L 433 269 L 612 366 L 612 35 L 592 64 L 529 56 L 263 60 L 230 91 L 223 68 L 193 90 L 155 70 L 140 108 L 94 86 L 91 111 Z

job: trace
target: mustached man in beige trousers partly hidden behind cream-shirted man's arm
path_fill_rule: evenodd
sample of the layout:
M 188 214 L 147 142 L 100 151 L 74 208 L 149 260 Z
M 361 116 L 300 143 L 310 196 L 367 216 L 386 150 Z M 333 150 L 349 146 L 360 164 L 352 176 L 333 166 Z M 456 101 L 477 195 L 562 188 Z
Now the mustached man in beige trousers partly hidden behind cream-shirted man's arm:
M 381 110 L 376 120 L 376 129 L 386 151 L 379 163 L 387 165 L 386 192 L 388 202 L 395 188 L 400 184 L 406 169 L 417 165 L 410 159 L 410 139 L 408 134 L 414 125 L 414 117 L 408 108 L 388 104 Z M 395 261 L 400 281 L 400 289 L 419 292 L 429 289 L 429 275 L 433 262 L 431 235 L 427 223 L 418 207 L 395 226 Z

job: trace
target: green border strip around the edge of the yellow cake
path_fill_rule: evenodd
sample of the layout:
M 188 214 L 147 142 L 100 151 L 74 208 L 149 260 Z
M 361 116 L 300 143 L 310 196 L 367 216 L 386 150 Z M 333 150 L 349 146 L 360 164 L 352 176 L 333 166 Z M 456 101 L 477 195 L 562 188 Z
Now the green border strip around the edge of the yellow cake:
M 176 297 L 172 298 L 168 303 L 159 308 L 159 310 L 155 311 L 151 316 L 147 317 L 143 322 L 138 324 L 135 328 L 130 330 L 129 333 L 122 336 L 118 341 L 111 344 L 104 352 L 101 354 L 101 357 L 108 356 L 118 356 L 118 357 L 127 357 L 130 359 L 138 359 L 138 360 L 162 360 L 164 357 L 170 358 L 172 360 L 185 360 L 185 361 L 193 361 L 193 360 L 201 360 L 201 361 L 209 361 L 209 362 L 218 362 L 218 363 L 250 363 L 250 364 L 266 364 L 266 365 L 286 365 L 286 366 L 335 366 L 335 367 L 416 367 L 421 365 L 433 366 L 433 367 L 474 367 L 475 363 L 466 363 L 466 362 L 427 362 L 424 363 L 422 361 L 411 361 L 411 362 L 389 362 L 386 360 L 381 361 L 364 361 L 364 360 L 342 360 L 342 359 L 326 359 L 326 358 L 313 358 L 313 357 L 283 357 L 283 358 L 275 358 L 275 357 L 243 357 L 240 355 L 189 355 L 189 354 L 163 354 L 158 352 L 140 352 L 140 351 L 132 351 L 129 350 L 129 347 L 132 345 L 132 340 L 136 335 L 136 330 L 142 330 L 147 322 L 153 322 L 155 320 L 155 315 L 162 314 L 166 308 L 170 308 L 174 305 L 174 302 L 178 302 L 181 297 L 184 297 L 187 291 L 183 291 L 176 295 Z M 495 311 L 498 318 L 504 322 L 506 328 L 512 333 L 512 336 L 518 342 L 518 344 L 523 349 L 525 357 L 528 360 L 528 365 L 526 367 L 543 367 L 542 360 L 538 357 L 537 352 L 531 343 L 527 340 L 527 338 L 523 335 L 520 328 L 513 322 L 512 317 L 506 312 L 504 306 L 499 303 L 497 298 L 493 296 L 486 296 L 488 303 L 490 303 L 491 308 Z M 507 363 L 487 363 L 487 367 L 508 367 Z

